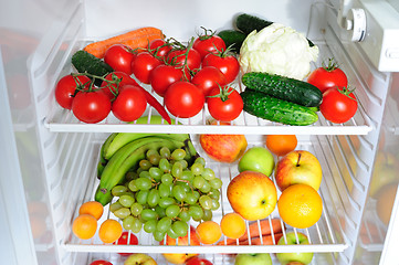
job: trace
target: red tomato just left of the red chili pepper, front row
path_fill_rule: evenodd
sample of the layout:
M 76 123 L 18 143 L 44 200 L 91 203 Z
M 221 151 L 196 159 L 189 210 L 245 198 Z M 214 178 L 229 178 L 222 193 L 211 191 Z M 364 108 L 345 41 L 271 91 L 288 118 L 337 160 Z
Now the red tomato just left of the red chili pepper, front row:
M 146 94 L 141 88 L 135 85 L 124 85 L 113 103 L 112 112 L 122 121 L 133 121 L 141 117 L 146 107 Z

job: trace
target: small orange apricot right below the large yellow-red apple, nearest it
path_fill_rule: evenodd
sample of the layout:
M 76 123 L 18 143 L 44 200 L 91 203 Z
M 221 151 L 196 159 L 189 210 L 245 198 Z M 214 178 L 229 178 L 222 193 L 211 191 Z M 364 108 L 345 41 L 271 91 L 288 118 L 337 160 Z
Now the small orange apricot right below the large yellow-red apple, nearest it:
M 237 240 L 245 234 L 245 221 L 238 213 L 228 213 L 220 221 L 222 233 L 233 240 Z

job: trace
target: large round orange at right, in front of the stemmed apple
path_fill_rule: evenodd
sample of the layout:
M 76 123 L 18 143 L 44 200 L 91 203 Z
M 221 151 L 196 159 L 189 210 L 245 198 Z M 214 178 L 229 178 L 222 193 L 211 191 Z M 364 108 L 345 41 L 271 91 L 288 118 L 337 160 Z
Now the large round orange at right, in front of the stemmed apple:
M 280 218 L 296 229 L 307 229 L 322 216 L 323 202 L 315 189 L 307 184 L 293 184 L 279 198 Z

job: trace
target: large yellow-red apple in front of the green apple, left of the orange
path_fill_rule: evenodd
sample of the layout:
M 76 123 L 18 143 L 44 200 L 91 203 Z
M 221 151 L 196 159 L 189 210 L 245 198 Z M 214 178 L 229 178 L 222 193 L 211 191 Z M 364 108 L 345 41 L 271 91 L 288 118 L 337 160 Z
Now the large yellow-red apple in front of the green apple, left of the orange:
M 228 186 L 228 200 L 243 219 L 255 221 L 267 218 L 277 203 L 277 190 L 265 174 L 243 171 Z

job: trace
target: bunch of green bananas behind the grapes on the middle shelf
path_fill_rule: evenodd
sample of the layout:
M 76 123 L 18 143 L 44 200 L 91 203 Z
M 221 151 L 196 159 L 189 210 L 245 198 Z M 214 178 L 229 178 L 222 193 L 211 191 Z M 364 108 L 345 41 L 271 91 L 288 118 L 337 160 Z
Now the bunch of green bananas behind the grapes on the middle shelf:
M 151 124 L 160 124 L 160 116 L 151 116 Z M 147 124 L 147 117 L 141 117 L 136 123 Z M 95 200 L 103 205 L 108 204 L 113 199 L 111 190 L 125 182 L 126 173 L 137 169 L 138 162 L 145 159 L 148 150 L 159 150 L 161 147 L 168 147 L 170 150 L 185 149 L 188 161 L 193 161 L 199 156 L 189 134 L 114 132 L 109 135 L 101 148 L 97 166 L 99 184 Z

